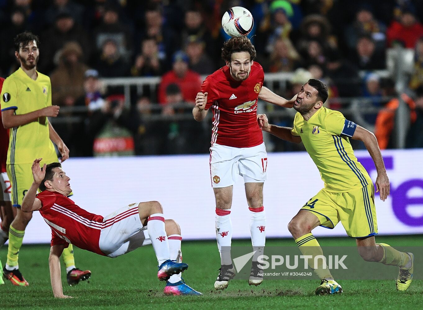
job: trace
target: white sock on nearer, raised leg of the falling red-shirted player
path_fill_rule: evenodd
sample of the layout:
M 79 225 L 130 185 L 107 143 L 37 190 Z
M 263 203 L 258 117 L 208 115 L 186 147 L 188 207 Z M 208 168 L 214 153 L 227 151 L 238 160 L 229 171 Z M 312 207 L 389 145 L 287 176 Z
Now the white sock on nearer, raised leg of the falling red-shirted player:
M 162 213 L 154 213 L 148 217 L 148 235 L 156 253 L 159 266 L 170 259 L 168 238 L 165 230 L 165 217 Z

